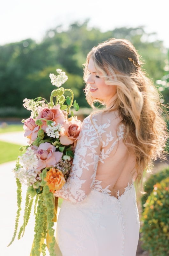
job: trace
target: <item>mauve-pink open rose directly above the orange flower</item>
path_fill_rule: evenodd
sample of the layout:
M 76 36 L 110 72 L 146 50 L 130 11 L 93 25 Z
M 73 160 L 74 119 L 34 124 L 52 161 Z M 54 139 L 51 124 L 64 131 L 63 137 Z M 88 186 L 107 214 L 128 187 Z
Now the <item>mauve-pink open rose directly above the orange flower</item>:
M 36 149 L 35 153 L 39 158 L 37 166 L 38 171 L 46 167 L 55 166 L 62 159 L 63 153 L 59 151 L 55 152 L 55 146 L 53 146 L 49 142 L 41 143 L 38 148 L 33 148 Z

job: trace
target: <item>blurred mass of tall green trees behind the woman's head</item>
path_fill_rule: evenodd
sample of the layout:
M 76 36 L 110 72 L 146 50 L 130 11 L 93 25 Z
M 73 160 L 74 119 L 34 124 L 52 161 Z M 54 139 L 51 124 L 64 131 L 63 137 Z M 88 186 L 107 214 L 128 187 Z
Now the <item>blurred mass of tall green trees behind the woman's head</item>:
M 56 68 L 67 73 L 69 79 L 65 88 L 71 88 L 74 92 L 75 99 L 80 102 L 79 107 L 89 107 L 83 90 L 82 64 L 92 47 L 112 37 L 130 40 L 143 56 L 143 68 L 154 83 L 161 80 L 167 72 L 166 68 L 164 70 L 167 51 L 163 42 L 150 41 L 151 36 L 153 33 L 147 34 L 142 26 L 116 28 L 106 32 L 98 28 L 88 29 L 86 20 L 83 24 L 71 24 L 66 31 L 62 30 L 62 26 L 48 30 L 38 44 L 32 39 L 26 39 L 0 46 L 0 83 L 3 85 L 0 88 L 0 115 L 27 118 L 27 110 L 22 107 L 24 98 L 33 99 L 38 94 L 49 101 L 48 95 L 53 86 L 50 84 L 49 73 L 55 73 Z M 165 100 L 168 100 L 168 87 L 164 93 Z M 70 95 L 67 93 L 65 96 Z

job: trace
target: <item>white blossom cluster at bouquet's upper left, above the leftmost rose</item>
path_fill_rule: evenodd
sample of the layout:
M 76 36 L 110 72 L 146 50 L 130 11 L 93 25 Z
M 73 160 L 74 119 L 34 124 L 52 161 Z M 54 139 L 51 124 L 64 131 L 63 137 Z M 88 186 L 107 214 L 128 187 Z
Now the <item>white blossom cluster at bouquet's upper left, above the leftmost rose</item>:
M 47 104 L 45 104 L 44 100 L 38 100 L 38 101 L 34 101 L 34 100 L 29 100 L 29 99 L 24 99 L 23 102 L 25 102 L 23 104 L 24 108 L 26 108 L 27 110 L 31 110 L 31 116 L 32 118 L 35 118 L 36 116 L 38 116 L 37 113 L 37 109 L 38 107 L 41 105 L 42 107 L 46 107 Z

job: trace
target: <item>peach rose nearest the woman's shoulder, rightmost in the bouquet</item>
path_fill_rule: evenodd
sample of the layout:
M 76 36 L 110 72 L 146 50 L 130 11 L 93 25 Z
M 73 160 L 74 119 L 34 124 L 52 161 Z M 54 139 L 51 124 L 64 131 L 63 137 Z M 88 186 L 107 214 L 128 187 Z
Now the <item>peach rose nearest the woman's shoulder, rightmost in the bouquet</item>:
M 70 145 L 75 142 L 79 136 L 82 122 L 77 119 L 77 116 L 72 116 L 63 123 L 64 133 L 61 134 L 60 142 L 62 145 Z

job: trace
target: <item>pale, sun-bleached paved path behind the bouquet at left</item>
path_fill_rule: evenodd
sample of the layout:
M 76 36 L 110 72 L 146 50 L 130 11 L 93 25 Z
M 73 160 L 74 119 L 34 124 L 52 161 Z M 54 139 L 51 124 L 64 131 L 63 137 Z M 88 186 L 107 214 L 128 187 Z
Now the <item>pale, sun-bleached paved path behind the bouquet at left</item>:
M 0 140 L 15 143 L 19 145 L 27 145 L 27 139 L 23 136 L 23 132 L 10 132 L 0 134 Z M 10 135 L 10 136 L 9 136 Z M 9 247 L 14 232 L 15 217 L 17 211 L 17 194 L 16 181 L 12 169 L 16 161 L 0 164 L 1 184 L 0 184 L 0 255 L 2 256 L 29 256 L 34 236 L 34 216 L 33 211 L 25 230 L 24 236 L 18 240 L 14 240 Z M 19 227 L 22 225 L 24 202 L 26 195 L 26 186 L 22 188 L 22 211 L 20 216 Z M 56 227 L 55 227 L 56 228 Z M 47 256 L 49 256 L 47 250 Z

